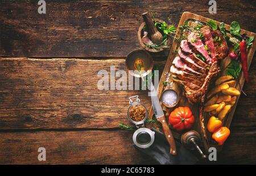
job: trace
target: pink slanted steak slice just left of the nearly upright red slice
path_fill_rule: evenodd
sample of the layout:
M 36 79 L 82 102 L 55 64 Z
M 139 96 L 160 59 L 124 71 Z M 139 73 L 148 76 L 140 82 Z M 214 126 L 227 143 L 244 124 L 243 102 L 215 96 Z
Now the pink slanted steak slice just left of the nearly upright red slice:
M 204 48 L 204 44 L 198 36 L 198 33 L 191 32 L 188 36 L 189 45 L 193 46 L 193 50 L 198 51 L 206 59 L 207 63 L 212 63 L 212 58 L 210 58 L 208 51 Z

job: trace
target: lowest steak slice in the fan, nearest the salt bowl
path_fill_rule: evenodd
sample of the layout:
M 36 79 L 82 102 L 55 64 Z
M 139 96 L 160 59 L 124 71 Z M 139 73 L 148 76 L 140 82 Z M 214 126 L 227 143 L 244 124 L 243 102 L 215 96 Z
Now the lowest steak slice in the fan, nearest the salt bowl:
M 193 83 L 193 84 L 196 84 L 199 86 L 201 86 L 204 83 L 203 78 L 199 78 L 198 76 L 189 74 L 182 70 L 179 70 L 174 65 L 171 66 L 170 71 L 171 71 L 172 75 L 177 76 L 177 78 L 179 78 L 180 80 L 188 81 L 190 83 Z

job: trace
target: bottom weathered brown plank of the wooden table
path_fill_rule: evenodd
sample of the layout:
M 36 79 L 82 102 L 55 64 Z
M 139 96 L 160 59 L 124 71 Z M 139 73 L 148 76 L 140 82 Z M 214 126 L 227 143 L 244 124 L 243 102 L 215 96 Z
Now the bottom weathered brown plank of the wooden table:
M 233 132 L 217 163 L 255 164 L 255 130 Z M 0 164 L 156 164 L 133 147 L 132 135 L 122 130 L 1 132 Z M 46 161 L 38 161 L 39 147 L 46 148 Z

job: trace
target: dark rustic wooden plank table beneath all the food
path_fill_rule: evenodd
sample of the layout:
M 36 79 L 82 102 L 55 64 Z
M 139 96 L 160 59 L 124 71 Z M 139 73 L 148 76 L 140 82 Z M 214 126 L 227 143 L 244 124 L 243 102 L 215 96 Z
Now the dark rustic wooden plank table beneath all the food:
M 119 130 L 127 97 L 146 91 L 99 91 L 97 72 L 125 69 L 140 48 L 137 29 L 144 11 L 175 26 L 184 11 L 255 31 L 254 1 L 36 1 L 0 2 L 0 164 L 155 164 L 136 151 L 132 132 Z M 163 68 L 167 54 L 155 59 Z M 256 62 L 218 155 L 220 164 L 256 163 Z M 38 161 L 45 147 L 47 160 Z

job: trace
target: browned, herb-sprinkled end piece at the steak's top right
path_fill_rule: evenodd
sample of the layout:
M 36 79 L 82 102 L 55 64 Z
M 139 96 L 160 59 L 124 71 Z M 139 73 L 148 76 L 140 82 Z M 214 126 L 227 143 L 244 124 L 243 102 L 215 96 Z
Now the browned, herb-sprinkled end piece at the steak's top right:
M 217 39 L 214 40 L 215 57 L 217 59 L 224 59 L 229 54 L 229 47 L 225 38 L 221 35 L 221 32 L 217 30 L 212 31 L 212 36 Z

